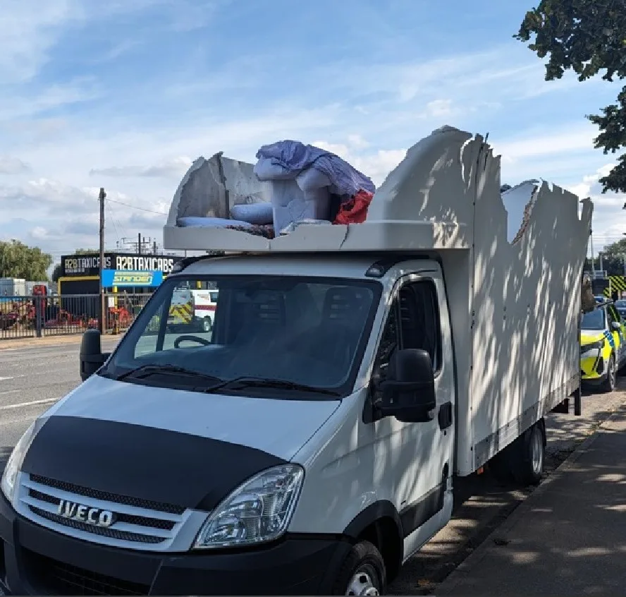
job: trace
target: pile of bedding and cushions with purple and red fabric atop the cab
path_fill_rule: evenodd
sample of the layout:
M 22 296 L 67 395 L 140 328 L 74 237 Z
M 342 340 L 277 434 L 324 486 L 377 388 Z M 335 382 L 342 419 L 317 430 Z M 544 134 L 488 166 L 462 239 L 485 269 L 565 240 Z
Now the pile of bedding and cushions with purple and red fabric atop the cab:
M 221 154 L 216 157 L 224 160 Z M 241 184 L 236 180 L 228 181 L 228 176 L 222 174 L 221 185 L 215 184 L 215 176 L 209 178 L 214 183 L 212 187 L 219 189 L 220 195 L 226 195 L 226 203 L 233 203 L 228 205 L 228 217 L 208 215 L 207 210 L 188 215 L 190 210 L 179 207 L 178 227 L 236 229 L 272 239 L 302 224 L 359 224 L 367 218 L 367 208 L 376 191 L 374 183 L 337 155 L 300 141 L 283 140 L 263 145 L 256 157 L 257 163 L 250 176 L 259 184 L 254 193 L 250 193 L 248 178 Z M 239 168 L 250 167 L 250 164 L 230 161 Z M 219 168 L 220 173 L 223 170 Z M 229 182 L 235 192 L 229 193 Z M 218 200 L 198 198 L 198 185 L 190 186 L 196 196 L 188 199 L 188 203 L 212 205 Z M 248 192 L 238 193 L 241 186 Z M 204 188 L 202 192 L 210 194 L 211 189 Z

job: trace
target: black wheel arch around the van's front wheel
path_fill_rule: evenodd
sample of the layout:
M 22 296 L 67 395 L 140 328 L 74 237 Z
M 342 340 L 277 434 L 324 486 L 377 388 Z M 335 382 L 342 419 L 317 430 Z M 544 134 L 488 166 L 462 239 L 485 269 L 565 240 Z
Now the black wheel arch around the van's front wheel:
M 387 580 L 395 579 L 402 567 L 404 541 L 400 514 L 391 502 L 370 504 L 345 527 L 343 534 L 354 543 L 372 543 L 383 557 Z

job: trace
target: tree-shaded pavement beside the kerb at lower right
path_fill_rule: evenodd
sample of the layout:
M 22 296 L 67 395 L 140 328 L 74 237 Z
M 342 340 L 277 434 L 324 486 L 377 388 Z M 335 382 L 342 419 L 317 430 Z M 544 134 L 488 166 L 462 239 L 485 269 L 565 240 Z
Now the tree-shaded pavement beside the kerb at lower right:
M 626 407 L 584 442 L 436 595 L 623 595 Z

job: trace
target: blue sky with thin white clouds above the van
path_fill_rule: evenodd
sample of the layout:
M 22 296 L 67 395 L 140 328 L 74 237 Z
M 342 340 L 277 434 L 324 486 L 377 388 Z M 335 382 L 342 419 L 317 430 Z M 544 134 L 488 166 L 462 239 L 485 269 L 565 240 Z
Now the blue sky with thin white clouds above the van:
M 141 231 L 161 242 L 192 159 L 264 143 L 329 147 L 380 184 L 448 124 L 489 132 L 503 182 L 542 177 L 596 200 L 594 244 L 626 230 L 594 150 L 616 85 L 544 82 L 513 40 L 531 2 L 4 0 L 0 238 L 55 257 Z

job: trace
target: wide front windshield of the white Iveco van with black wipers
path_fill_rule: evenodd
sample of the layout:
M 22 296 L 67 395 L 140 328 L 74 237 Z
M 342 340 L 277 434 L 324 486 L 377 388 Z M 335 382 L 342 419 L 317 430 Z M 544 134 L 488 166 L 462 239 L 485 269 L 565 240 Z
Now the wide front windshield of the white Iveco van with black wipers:
M 196 290 L 211 291 L 214 304 Z M 171 277 L 101 375 L 198 392 L 338 399 L 352 392 L 381 291 L 374 280 Z

